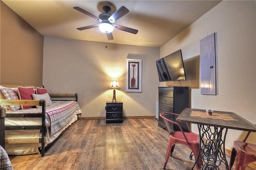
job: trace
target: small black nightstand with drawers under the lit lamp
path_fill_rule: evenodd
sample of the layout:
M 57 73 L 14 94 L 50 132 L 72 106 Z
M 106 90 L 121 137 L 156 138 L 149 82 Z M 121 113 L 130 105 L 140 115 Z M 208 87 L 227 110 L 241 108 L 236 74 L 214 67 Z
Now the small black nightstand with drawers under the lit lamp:
M 106 102 L 106 123 L 123 123 L 123 102 Z

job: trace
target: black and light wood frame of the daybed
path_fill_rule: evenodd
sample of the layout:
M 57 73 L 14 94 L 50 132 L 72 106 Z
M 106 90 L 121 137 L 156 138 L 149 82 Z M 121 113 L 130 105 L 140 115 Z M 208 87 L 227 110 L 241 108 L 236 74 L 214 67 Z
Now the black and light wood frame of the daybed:
M 7 88 L 17 88 L 19 85 L 1 85 Z M 29 86 L 29 85 L 20 85 L 23 87 L 43 87 L 43 86 Z M 64 100 L 64 101 L 77 101 L 77 93 L 49 93 L 51 100 Z M 42 106 L 42 113 L 6 113 L 6 110 L 1 107 L 0 108 L 0 145 L 4 148 L 5 142 L 17 144 L 17 143 L 41 143 L 42 150 L 41 155 L 42 157 L 45 154 L 45 142 L 46 142 L 46 125 L 45 125 L 45 107 L 46 101 L 45 100 L 7 100 L 1 99 L 0 105 L 25 105 L 25 106 Z M 4 119 L 5 117 L 42 117 L 42 125 L 38 126 L 5 126 Z M 5 139 L 5 130 L 22 130 L 22 129 L 39 129 L 41 130 L 41 135 L 39 137 L 30 137 L 26 139 L 16 139 L 11 141 L 6 141 Z

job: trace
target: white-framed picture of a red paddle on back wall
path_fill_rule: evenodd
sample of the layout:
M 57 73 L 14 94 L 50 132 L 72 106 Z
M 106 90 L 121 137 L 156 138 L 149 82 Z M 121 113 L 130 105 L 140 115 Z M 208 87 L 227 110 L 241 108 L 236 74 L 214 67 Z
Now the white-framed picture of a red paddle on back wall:
M 142 92 L 141 59 L 126 59 L 126 92 Z

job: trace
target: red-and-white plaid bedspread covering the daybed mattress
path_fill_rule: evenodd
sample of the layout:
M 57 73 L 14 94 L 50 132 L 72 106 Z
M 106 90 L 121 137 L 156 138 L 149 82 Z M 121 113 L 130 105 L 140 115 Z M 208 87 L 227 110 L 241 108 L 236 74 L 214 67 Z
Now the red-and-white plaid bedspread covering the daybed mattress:
M 42 109 L 30 108 L 10 111 L 8 113 L 41 113 Z M 49 118 L 50 135 L 64 127 L 75 115 L 82 113 L 76 101 L 52 101 L 52 105 L 46 107 Z

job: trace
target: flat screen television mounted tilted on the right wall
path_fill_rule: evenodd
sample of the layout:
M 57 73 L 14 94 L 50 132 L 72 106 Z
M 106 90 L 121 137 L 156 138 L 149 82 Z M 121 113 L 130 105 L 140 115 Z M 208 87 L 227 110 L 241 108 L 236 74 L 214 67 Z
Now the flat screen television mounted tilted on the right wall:
M 181 49 L 156 61 L 159 81 L 186 80 Z

